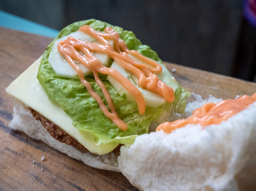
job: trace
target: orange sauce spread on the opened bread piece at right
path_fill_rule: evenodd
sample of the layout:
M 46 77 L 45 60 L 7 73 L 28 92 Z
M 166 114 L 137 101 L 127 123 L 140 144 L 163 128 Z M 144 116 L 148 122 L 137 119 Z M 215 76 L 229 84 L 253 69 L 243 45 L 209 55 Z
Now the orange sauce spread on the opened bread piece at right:
M 221 121 L 226 121 L 231 116 L 246 109 L 255 101 L 256 93 L 251 97 L 243 95 L 237 99 L 223 100 L 217 104 L 211 102 L 206 103 L 201 108 L 195 109 L 192 116 L 187 119 L 162 123 L 157 127 L 156 131 L 162 129 L 166 133 L 172 133 L 173 130 L 184 127 L 187 124 L 200 124 L 201 126 L 219 124 Z

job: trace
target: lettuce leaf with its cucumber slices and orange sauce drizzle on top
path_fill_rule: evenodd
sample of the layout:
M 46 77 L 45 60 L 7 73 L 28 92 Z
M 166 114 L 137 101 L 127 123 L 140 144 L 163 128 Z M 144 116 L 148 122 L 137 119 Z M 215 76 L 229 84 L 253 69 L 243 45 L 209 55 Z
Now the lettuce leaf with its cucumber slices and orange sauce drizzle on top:
M 96 145 L 133 144 L 150 124 L 169 120 L 172 108 L 182 113 L 190 96 L 132 32 L 93 19 L 59 33 L 37 78 L 48 98 L 76 128 L 91 133 Z

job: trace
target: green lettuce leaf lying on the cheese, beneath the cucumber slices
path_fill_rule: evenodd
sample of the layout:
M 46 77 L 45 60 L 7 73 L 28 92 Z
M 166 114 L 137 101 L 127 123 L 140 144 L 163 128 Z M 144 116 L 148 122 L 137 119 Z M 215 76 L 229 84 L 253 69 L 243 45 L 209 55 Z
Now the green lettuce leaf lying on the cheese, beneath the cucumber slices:
M 108 26 L 112 27 L 119 33 L 121 39 L 127 44 L 128 49 L 137 50 L 142 55 L 162 63 L 157 53 L 151 50 L 149 46 L 142 45 L 133 32 L 124 31 L 120 27 L 112 26 L 108 23 L 94 19 L 70 24 L 59 33 L 56 39 L 78 31 L 78 29 L 85 24 L 88 24 L 97 31 L 104 31 Z M 145 113 L 140 115 L 137 103 L 127 101 L 125 95 L 120 96 L 107 80 L 107 76 L 99 74 L 114 101 L 114 106 L 119 117 L 128 125 L 128 129 L 122 131 L 103 114 L 97 102 L 80 83 L 79 79 L 63 78 L 55 74 L 48 62 L 53 42 L 48 45 L 43 54 L 37 78 L 49 99 L 53 102 L 57 102 L 64 109 L 69 117 L 72 118 L 73 125 L 76 128 L 83 131 L 89 131 L 93 134 L 95 137 L 94 141 L 97 145 L 107 142 L 132 144 L 137 136 L 147 133 L 150 124 L 156 121 L 160 116 L 164 114 L 166 116 L 170 115 L 172 103 L 166 103 L 159 108 L 147 106 Z M 85 79 L 91 84 L 93 90 L 101 97 L 107 108 L 109 108 L 101 88 L 96 84 L 93 75 L 86 76 Z M 181 87 L 178 87 L 178 91 L 175 92 L 175 111 L 183 112 L 185 110 L 185 98 L 188 97 L 188 95 L 188 92 L 184 91 Z

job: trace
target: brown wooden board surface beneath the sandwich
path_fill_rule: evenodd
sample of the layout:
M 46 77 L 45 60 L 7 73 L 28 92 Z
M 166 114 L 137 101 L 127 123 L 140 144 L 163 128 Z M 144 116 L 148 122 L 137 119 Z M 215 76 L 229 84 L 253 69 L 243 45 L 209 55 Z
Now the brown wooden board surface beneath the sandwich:
M 121 173 L 91 168 L 8 127 L 13 103 L 4 89 L 40 57 L 52 40 L 0 28 L 0 190 L 137 190 Z M 172 73 L 182 87 L 203 97 L 211 94 L 228 99 L 256 92 L 255 83 L 166 65 L 170 71 L 176 69 Z M 42 156 L 46 158 L 43 162 Z

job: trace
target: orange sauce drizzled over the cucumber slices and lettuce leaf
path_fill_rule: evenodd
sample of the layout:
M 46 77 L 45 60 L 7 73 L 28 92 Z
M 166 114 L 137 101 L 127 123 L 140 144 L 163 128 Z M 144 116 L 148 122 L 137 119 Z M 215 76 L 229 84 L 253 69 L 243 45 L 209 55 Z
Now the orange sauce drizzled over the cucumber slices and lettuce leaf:
M 137 77 L 138 85 L 140 87 L 152 92 L 157 92 L 169 103 L 173 102 L 175 97 L 172 87 L 165 85 L 155 75 L 162 72 L 162 66 L 159 63 L 144 57 L 135 50 L 129 50 L 125 42 L 120 38 L 119 34 L 110 27 L 105 28 L 105 33 L 94 31 L 88 25 L 82 26 L 79 31 L 88 34 L 101 44 L 85 42 L 74 37 L 68 37 L 67 40 L 59 42 L 58 51 L 66 59 L 69 65 L 71 65 L 71 67 L 78 73 L 78 77 L 81 83 L 86 87 L 89 94 L 91 94 L 91 96 L 97 101 L 104 115 L 111 119 L 117 127 L 123 131 L 127 130 L 127 124 L 124 123 L 117 115 L 113 100 L 109 95 L 106 87 L 99 79 L 98 73 L 112 76 L 127 91 L 129 91 L 134 96 L 138 104 L 140 114 L 145 113 L 145 99 L 139 89 L 137 89 L 137 87 L 135 87 L 128 79 L 122 76 L 122 74 L 120 74 L 114 68 L 107 68 L 103 66 L 102 63 L 91 54 L 91 52 L 98 52 L 109 55 L 109 57 L 114 59 L 122 68 Z M 107 40 L 113 40 L 114 48 L 109 44 L 109 42 L 107 42 Z M 83 52 L 85 56 L 80 55 L 78 50 Z M 147 64 L 136 62 L 130 58 L 128 54 L 133 55 L 134 57 Z M 76 65 L 74 60 L 83 64 L 86 68 L 92 71 L 96 83 L 99 87 L 101 87 L 102 92 L 106 97 L 111 112 L 109 112 L 106 105 L 104 105 L 104 102 L 99 97 L 99 95 L 93 91 L 89 82 L 84 79 L 83 71 Z

